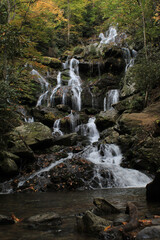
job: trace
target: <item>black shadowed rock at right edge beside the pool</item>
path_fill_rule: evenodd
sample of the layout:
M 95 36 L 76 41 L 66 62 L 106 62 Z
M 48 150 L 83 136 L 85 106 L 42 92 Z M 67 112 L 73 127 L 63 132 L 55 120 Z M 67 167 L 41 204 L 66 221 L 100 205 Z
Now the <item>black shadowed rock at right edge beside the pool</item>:
M 160 170 L 157 171 L 155 179 L 146 186 L 146 197 L 148 201 L 160 202 Z

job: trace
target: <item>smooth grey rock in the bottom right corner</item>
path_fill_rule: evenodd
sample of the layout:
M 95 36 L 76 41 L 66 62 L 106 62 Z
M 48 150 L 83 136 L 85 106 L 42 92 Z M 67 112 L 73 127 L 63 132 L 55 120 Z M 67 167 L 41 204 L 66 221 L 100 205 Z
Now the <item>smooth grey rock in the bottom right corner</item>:
M 159 240 L 160 239 L 160 226 L 146 227 L 141 230 L 137 236 L 136 240 Z

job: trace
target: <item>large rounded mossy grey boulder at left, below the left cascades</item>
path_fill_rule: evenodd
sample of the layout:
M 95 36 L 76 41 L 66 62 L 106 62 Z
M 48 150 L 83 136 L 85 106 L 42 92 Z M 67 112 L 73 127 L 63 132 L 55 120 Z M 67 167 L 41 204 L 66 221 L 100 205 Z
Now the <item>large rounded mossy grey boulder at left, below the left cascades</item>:
M 19 127 L 16 127 L 9 133 L 10 144 L 12 142 L 13 147 L 11 151 L 17 152 L 19 148 L 32 149 L 42 147 L 48 147 L 52 145 L 53 138 L 50 128 L 43 125 L 40 122 L 25 123 Z

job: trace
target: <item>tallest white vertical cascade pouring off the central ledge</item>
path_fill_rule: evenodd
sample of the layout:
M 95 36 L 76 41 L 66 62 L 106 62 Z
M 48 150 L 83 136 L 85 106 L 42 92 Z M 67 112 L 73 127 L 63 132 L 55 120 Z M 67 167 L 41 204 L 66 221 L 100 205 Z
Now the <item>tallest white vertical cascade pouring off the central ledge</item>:
M 70 80 L 68 86 L 71 87 L 73 96 L 72 96 L 72 108 L 74 110 L 81 110 L 81 80 L 79 77 L 79 61 L 75 58 L 72 58 L 70 61 Z

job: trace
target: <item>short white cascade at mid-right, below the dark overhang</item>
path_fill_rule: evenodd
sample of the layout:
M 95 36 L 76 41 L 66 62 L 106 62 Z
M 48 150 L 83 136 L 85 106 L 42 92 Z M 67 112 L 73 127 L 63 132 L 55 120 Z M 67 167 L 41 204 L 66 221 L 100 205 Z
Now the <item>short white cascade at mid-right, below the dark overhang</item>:
M 116 104 L 119 101 L 119 90 L 112 89 L 108 91 L 107 95 L 107 100 L 104 100 L 104 109 L 110 110 L 113 109 L 112 105 Z

